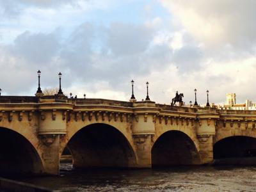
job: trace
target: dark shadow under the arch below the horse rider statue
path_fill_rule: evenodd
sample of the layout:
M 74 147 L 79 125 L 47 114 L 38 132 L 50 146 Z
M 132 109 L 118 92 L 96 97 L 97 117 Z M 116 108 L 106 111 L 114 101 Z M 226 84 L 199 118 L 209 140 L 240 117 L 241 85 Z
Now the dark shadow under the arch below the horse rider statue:
M 166 131 L 154 143 L 152 167 L 200 164 L 195 143 L 182 131 Z

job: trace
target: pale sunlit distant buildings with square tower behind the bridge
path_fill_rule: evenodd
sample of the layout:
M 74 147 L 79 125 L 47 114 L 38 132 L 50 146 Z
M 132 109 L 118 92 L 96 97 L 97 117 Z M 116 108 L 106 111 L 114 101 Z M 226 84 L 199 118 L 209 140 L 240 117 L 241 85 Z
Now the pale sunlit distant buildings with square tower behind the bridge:
M 219 109 L 230 109 L 230 110 L 256 110 L 256 103 L 252 100 L 246 99 L 245 103 L 236 103 L 236 93 L 226 94 L 226 103 L 224 105 L 217 105 Z

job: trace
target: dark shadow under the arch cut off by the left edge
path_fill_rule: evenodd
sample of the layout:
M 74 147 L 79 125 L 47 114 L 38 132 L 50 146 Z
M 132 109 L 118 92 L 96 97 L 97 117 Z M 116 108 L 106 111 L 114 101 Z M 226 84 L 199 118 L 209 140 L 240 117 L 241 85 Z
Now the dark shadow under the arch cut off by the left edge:
M 0 175 L 43 173 L 42 160 L 35 147 L 24 136 L 0 127 Z

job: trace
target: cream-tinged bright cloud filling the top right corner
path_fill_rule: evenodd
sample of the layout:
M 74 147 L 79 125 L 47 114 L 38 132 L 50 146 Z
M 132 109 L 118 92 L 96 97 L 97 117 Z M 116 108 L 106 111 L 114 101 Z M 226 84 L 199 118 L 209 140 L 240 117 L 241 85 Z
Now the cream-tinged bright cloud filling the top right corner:
M 230 46 L 239 51 L 251 51 L 255 46 L 256 2 L 253 0 L 161 2 L 208 49 Z

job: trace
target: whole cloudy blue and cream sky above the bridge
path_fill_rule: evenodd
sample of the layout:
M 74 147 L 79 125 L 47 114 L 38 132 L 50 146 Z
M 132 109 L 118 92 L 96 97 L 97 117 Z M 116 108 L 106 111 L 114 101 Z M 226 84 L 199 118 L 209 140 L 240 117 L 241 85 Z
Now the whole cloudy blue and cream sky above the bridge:
M 255 0 L 0 0 L 2 95 L 256 101 Z

